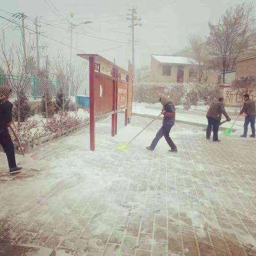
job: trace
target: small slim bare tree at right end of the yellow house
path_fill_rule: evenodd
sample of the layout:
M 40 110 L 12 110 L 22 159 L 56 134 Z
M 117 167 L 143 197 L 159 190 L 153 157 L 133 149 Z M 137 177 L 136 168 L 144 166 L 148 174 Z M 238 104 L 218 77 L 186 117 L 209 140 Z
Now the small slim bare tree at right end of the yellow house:
M 198 63 L 198 83 L 200 83 L 204 72 L 204 42 L 200 36 L 191 36 L 189 38 L 189 43 L 193 50 L 193 57 Z

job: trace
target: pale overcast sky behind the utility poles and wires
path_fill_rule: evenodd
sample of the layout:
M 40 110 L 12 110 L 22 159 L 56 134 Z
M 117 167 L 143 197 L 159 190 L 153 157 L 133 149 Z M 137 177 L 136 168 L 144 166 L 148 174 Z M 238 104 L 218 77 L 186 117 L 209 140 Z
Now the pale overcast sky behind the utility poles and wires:
M 72 20 L 81 25 L 74 31 L 73 46 L 86 53 L 98 53 L 109 60 L 116 60 L 117 65 L 127 68 L 132 58 L 130 21 L 126 14 L 133 6 L 137 8 L 141 27 L 135 27 L 135 65 L 150 65 L 150 53 L 172 54 L 188 45 L 190 35 L 198 34 L 203 38 L 208 35 L 208 21 L 218 22 L 223 11 L 242 0 L 9 0 L 1 1 L 0 9 L 11 13 L 23 12 L 28 18 L 26 26 L 35 29 L 33 19 L 41 17 L 40 30 L 43 35 L 62 43 L 70 44 L 70 33 L 65 18 L 74 12 Z M 51 5 L 52 3 L 52 5 Z M 55 7 L 55 9 L 54 9 Z M 58 12 L 57 12 L 58 11 Z M 0 11 L 0 15 L 10 18 L 11 14 Z M 49 24 L 49 25 L 47 25 Z M 9 26 L 0 18 L 0 27 L 5 28 L 6 42 L 19 41 L 20 31 Z M 2 36 L 2 35 L 1 35 Z M 28 31 L 26 34 L 29 37 Z M 32 35 L 34 36 L 34 35 Z M 100 38 L 102 39 L 100 39 Z M 114 42 L 117 41 L 117 42 Z M 49 46 L 42 55 L 55 57 L 59 51 L 69 58 L 69 48 L 60 43 L 40 37 L 42 46 Z M 73 50 L 73 59 L 79 50 Z M 43 58 L 42 58 L 43 61 Z

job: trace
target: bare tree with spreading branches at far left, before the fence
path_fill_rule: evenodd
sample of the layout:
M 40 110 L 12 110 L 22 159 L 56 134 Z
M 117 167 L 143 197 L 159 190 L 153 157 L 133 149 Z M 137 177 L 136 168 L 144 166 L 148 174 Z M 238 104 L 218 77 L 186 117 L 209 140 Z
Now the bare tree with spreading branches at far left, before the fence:
M 31 71 L 35 67 L 35 50 L 31 47 L 32 45 L 29 39 L 28 43 L 26 43 L 25 54 L 21 42 L 18 45 L 12 43 L 9 49 L 6 49 L 4 31 L 3 38 L 0 39 L 1 58 L 7 71 L 7 78 L 9 79 L 13 92 L 17 94 L 18 123 L 20 123 L 20 93 L 25 89 L 27 81 L 30 81 L 32 76 Z

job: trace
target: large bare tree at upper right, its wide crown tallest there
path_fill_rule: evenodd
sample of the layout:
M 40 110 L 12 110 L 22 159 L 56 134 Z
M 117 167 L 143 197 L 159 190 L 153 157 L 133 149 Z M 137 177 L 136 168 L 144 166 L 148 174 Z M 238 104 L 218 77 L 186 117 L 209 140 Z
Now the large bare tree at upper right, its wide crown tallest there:
M 252 2 L 238 4 L 235 8 L 230 7 L 222 15 L 218 25 L 209 21 L 210 36 L 208 43 L 214 48 L 214 55 L 222 60 L 222 82 L 225 83 L 225 72 L 235 67 L 239 54 L 243 53 L 253 31 L 254 6 Z

